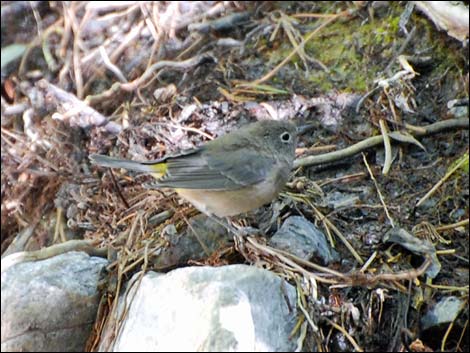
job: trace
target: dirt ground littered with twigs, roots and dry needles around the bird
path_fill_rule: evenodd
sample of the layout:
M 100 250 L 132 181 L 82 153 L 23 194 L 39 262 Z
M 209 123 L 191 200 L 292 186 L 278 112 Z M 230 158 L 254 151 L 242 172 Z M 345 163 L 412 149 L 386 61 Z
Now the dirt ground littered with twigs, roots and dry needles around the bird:
M 269 238 L 303 215 L 340 254 L 335 273 L 251 243 L 198 263 L 298 286 L 304 350 L 468 351 L 468 39 L 404 2 L 6 1 L 1 26 L 2 254 L 86 239 L 128 269 L 110 267 L 114 284 L 157 268 L 144 248 L 198 212 L 88 155 L 155 159 L 291 119 L 304 130 L 285 191 L 238 222 Z M 452 319 L 425 327 L 448 297 Z

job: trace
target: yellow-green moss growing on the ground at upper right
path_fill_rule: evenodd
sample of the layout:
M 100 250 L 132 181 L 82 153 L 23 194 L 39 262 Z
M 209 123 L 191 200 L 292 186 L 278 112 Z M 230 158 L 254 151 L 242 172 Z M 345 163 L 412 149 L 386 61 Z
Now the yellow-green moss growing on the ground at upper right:
M 325 13 L 333 13 L 334 8 L 341 6 L 317 3 L 316 10 L 320 13 L 323 4 L 327 7 L 324 9 Z M 323 92 L 332 89 L 355 93 L 369 91 L 374 87 L 375 80 L 385 76 L 383 70 L 394 59 L 398 49 L 406 40 L 399 27 L 402 13 L 403 6 L 389 3 L 388 6 L 378 9 L 373 16 L 366 17 L 363 11 L 354 18 L 338 19 L 328 24 L 305 44 L 304 50 L 307 55 L 325 65 L 329 71 L 326 72 L 314 63 L 309 63 L 309 70 L 305 70 L 303 60 L 299 55 L 294 55 L 275 75 L 276 78 L 271 79 L 272 82 L 282 87 L 289 87 L 290 82 L 286 80 L 295 77 L 296 84 L 307 87 L 309 91 L 311 88 Z M 302 28 L 305 38 L 323 21 L 300 20 L 302 25 L 294 27 Z M 449 50 L 448 46 L 438 43 L 440 40 L 445 40 L 446 35 L 443 34 L 443 39 L 439 38 L 432 23 L 421 15 L 413 14 L 408 29 L 411 29 L 412 25 L 417 27 L 415 36 L 419 40 L 412 40 L 403 54 L 424 52 L 422 55 L 432 55 L 433 59 L 436 57 L 435 67 L 432 69 L 442 73 L 449 70 L 449 66 L 462 67 L 462 58 L 458 57 L 459 51 Z M 293 50 L 282 29 L 279 30 L 274 42 L 258 42 L 258 48 L 262 48 L 260 53 L 270 68 L 278 65 Z M 430 48 L 436 52 L 426 54 L 426 50 L 429 52 Z M 392 72 L 401 70 L 397 62 L 393 64 Z

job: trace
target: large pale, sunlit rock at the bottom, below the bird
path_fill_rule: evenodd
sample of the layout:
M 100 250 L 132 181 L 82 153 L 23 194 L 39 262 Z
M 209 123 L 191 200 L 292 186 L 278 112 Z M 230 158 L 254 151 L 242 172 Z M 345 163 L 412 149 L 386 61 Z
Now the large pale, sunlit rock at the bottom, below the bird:
M 133 301 L 114 347 L 101 350 L 295 349 L 295 339 L 289 340 L 297 318 L 295 288 L 267 270 L 187 267 L 166 275 L 147 273 L 136 287 L 125 296 Z

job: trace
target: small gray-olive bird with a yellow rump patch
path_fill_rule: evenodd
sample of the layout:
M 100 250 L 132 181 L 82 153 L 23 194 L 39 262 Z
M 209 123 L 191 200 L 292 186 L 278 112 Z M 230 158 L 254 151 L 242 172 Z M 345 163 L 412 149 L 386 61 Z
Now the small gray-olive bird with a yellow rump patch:
M 262 120 L 161 159 L 139 162 L 91 154 L 93 164 L 150 173 L 208 216 L 236 216 L 277 197 L 295 158 L 297 127 Z

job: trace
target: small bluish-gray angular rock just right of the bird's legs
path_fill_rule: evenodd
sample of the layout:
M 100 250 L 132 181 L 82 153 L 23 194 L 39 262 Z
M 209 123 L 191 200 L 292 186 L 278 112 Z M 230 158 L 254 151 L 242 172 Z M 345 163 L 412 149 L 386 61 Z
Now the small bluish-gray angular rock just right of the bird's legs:
M 306 260 L 315 256 L 325 265 L 339 260 L 338 253 L 330 247 L 323 232 L 300 216 L 287 218 L 269 240 L 269 245 Z

